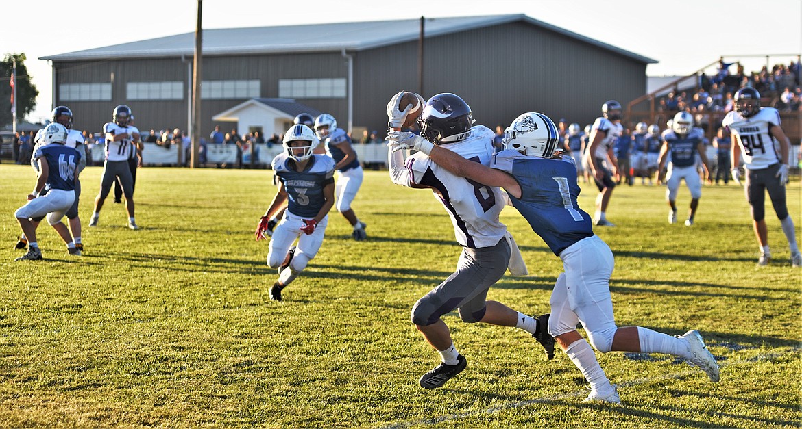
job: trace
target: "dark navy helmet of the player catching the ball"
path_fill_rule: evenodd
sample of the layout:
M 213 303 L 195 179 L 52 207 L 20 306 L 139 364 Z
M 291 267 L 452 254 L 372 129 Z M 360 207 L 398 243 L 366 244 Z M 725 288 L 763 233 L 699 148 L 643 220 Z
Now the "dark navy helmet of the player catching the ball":
M 448 92 L 429 98 L 418 118 L 420 135 L 435 145 L 468 138 L 472 125 L 471 107 L 460 96 Z

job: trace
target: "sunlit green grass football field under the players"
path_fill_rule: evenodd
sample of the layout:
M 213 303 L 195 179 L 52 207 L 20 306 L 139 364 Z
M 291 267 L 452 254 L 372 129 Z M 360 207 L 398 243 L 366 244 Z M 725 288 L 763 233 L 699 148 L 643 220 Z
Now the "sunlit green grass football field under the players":
M 438 363 L 409 320 L 450 275 L 460 247 L 427 190 L 368 171 L 354 210 L 369 239 L 332 214 L 318 257 L 268 298 L 276 272 L 253 239 L 273 197 L 267 170 L 146 168 L 136 219 L 107 199 L 87 227 L 99 167 L 83 173 L 83 256 L 38 230 L 44 261 L 14 263 L 13 213 L 30 166 L 0 166 L 0 427 L 800 427 L 800 287 L 767 204 L 775 260 L 756 267 L 743 190 L 704 186 L 696 225 L 666 223 L 664 188 L 620 186 L 597 234 L 613 249 L 619 326 L 699 329 L 722 380 L 666 355 L 598 354 L 621 406 L 587 405 L 561 351 L 549 362 L 524 331 L 445 316 L 468 369 L 445 387 L 417 380 Z M 596 192 L 584 186 L 581 207 Z M 802 224 L 800 182 L 788 206 Z M 689 202 L 679 192 L 680 222 Z M 530 275 L 489 299 L 549 311 L 560 260 L 508 207 Z

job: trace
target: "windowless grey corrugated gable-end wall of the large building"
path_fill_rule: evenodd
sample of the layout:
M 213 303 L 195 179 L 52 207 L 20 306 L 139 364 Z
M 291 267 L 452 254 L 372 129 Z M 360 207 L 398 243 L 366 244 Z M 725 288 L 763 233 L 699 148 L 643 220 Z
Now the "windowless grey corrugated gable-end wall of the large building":
M 354 125 L 386 128 L 390 96 L 417 90 L 417 50 L 409 42 L 357 54 Z M 626 106 L 646 90 L 646 64 L 523 22 L 427 38 L 424 55 L 423 96 L 459 94 L 492 129 L 531 110 L 584 126 L 606 100 Z

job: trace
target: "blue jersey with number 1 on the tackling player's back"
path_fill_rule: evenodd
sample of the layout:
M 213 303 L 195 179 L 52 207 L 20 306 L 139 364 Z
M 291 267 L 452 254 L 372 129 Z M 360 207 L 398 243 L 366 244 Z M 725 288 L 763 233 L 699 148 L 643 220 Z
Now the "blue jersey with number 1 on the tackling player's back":
M 554 252 L 593 236 L 590 215 L 579 208 L 577 166 L 573 158 L 533 158 L 517 150 L 493 155 L 492 168 L 512 174 L 520 185 L 520 198 L 509 195 L 512 205 Z

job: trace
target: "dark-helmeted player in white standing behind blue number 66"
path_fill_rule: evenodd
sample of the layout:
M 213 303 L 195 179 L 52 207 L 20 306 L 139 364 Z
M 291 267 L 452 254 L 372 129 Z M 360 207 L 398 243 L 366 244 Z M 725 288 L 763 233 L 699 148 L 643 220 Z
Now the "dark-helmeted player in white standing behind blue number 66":
M 67 141 L 64 142 L 64 146 L 71 147 L 75 150 L 78 150 L 81 156 L 83 157 L 83 165 L 86 164 L 86 150 L 84 148 L 84 139 L 83 134 L 79 130 L 72 129 L 72 110 L 70 110 L 67 106 L 57 106 L 51 112 L 51 123 L 59 123 L 67 128 Z M 34 146 L 33 154 L 36 154 L 36 150 L 39 147 L 45 146 L 47 143 L 44 141 L 44 130 L 38 130 L 36 133 L 36 137 L 34 137 L 34 142 L 36 142 Z M 39 166 L 38 161 L 34 156 L 30 157 L 30 165 L 34 167 L 34 170 L 38 173 Z M 81 168 L 83 169 L 83 165 Z M 67 223 L 70 225 L 71 231 L 71 239 L 67 242 L 67 251 L 70 252 L 70 255 L 79 256 L 83 251 L 83 243 L 81 241 L 81 219 L 79 217 L 79 196 L 81 194 L 81 182 L 78 180 L 78 177 L 75 177 L 75 202 L 72 203 L 70 210 L 67 210 Z M 39 222 L 44 219 L 43 217 L 38 217 L 31 219 L 33 221 L 34 229 L 36 229 L 39 225 Z M 25 235 L 21 235 L 17 241 L 16 248 L 24 249 L 28 244 L 28 240 L 26 239 Z

